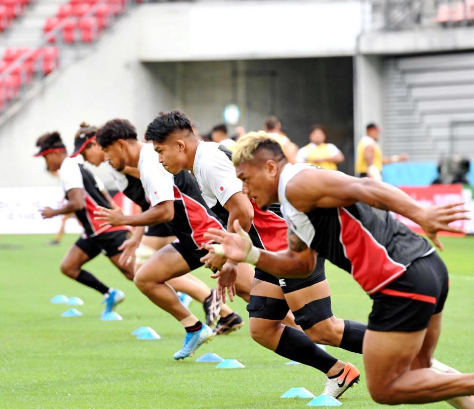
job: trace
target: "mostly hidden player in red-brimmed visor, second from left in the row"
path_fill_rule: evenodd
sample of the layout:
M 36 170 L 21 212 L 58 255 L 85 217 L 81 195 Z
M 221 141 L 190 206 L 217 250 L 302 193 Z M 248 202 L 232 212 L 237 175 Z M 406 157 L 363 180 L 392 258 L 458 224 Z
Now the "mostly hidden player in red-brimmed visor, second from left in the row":
M 81 124 L 77 133 L 77 149 L 71 155 L 79 154 L 85 161 L 92 165 L 99 166 L 105 162 L 105 152 L 96 141 L 98 128 L 85 123 Z M 107 163 L 109 170 L 117 182 L 118 189 L 129 199 L 138 204 L 142 211 L 147 211 L 150 205 L 145 199 L 145 193 L 140 182 L 140 173 L 138 169 L 125 167 L 122 173 L 117 172 Z M 138 177 L 138 178 L 137 178 Z M 120 247 L 122 250 L 119 262 L 128 264 L 133 261 L 136 255 L 134 271 L 148 260 L 156 251 L 166 244 L 172 243 L 176 236 L 165 223 L 154 224 L 144 227 L 136 227 L 131 238 L 126 240 Z M 206 324 L 211 325 L 219 318 L 220 302 L 217 299 L 216 290 L 211 290 L 204 282 L 191 274 L 185 274 L 181 277 L 172 278 L 167 282 L 176 291 L 191 295 L 194 299 L 202 303 L 206 314 Z M 232 311 L 231 311 L 232 312 Z

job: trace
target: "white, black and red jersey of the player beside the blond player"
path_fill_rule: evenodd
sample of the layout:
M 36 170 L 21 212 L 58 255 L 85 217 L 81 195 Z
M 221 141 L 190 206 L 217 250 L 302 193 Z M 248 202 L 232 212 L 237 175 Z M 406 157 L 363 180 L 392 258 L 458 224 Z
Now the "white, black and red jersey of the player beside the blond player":
M 224 205 L 235 193 L 242 191 L 242 181 L 237 178 L 232 163 L 232 152 L 215 142 L 199 142 L 193 172 L 209 208 L 227 222 L 229 212 Z M 264 212 L 255 203 L 252 205 L 254 218 L 249 234 L 253 244 L 269 251 L 288 248 L 284 219 L 276 212 Z

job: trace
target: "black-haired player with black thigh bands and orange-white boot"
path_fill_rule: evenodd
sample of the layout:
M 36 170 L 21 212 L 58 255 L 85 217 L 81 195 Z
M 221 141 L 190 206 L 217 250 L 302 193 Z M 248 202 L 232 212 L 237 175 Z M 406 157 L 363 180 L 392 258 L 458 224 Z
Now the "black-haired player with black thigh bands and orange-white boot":
M 262 249 L 282 251 L 288 247 L 284 220 L 260 210 L 242 193 L 231 152 L 216 143 L 198 141 L 183 112 L 160 113 L 148 125 L 145 139 L 153 142 L 166 170 L 194 173 L 207 205 L 221 220 L 228 221 L 228 228 L 238 221 Z M 208 257 L 202 260 L 209 261 Z M 234 292 L 235 275 L 229 271 L 215 275 L 221 297 L 225 297 L 226 288 L 231 296 Z M 306 334 L 282 325 L 289 309 Z M 364 324 L 334 317 L 323 258 L 304 279 L 276 278 L 256 268 L 247 310 L 253 339 L 281 356 L 324 372 L 328 376 L 324 394 L 337 398 L 358 381 L 360 373 L 355 366 L 315 345 L 317 342 L 361 353 L 365 331 Z

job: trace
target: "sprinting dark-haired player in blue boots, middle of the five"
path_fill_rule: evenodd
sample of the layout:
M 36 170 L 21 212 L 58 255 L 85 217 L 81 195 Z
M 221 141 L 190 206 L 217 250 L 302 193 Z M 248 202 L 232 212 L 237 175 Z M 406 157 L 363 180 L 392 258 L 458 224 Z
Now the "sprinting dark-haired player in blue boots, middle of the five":
M 174 354 L 174 359 L 191 356 L 202 343 L 211 340 L 214 333 L 179 301 L 166 282 L 202 265 L 199 259 L 207 253 L 200 246 L 202 235 L 208 227 L 222 228 L 222 225 L 206 207 L 193 176 L 182 172 L 173 177 L 166 172 L 153 146 L 139 142 L 134 126 L 127 120 L 108 121 L 97 132 L 97 142 L 109 163 L 119 172 L 126 166 L 138 168 L 150 208 L 134 216 L 125 216 L 120 209 L 100 208 L 96 220 L 103 224 L 131 226 L 167 223 L 179 239 L 179 242 L 162 247 L 140 267 L 135 284 L 185 328 L 183 347 Z M 228 306 L 221 308 L 220 314 L 232 321 L 231 329 L 243 325 L 242 319 Z

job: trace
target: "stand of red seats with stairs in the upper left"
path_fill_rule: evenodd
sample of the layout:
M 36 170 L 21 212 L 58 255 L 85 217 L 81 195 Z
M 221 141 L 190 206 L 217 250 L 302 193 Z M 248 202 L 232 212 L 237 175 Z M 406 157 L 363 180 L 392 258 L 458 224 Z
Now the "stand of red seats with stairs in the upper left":
M 0 1 L 0 27 L 8 27 L 28 2 Z M 0 44 L 6 45 L 0 51 L 0 112 L 20 98 L 27 85 L 74 60 L 71 45 L 97 41 L 126 8 L 126 0 L 38 0 L 8 36 L 0 35 Z

